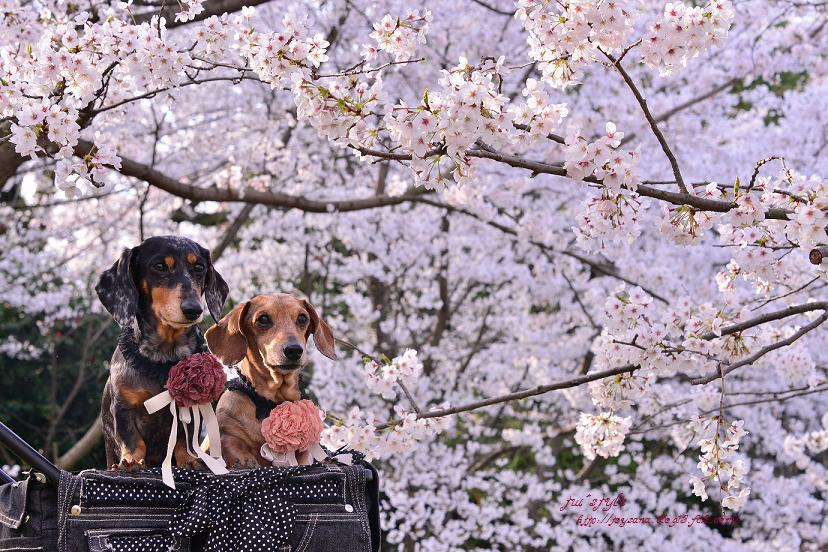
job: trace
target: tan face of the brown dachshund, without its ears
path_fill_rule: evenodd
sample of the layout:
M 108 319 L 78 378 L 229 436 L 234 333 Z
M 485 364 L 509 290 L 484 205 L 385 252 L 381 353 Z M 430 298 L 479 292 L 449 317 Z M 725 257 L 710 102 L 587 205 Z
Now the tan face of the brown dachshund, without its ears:
M 271 293 L 254 297 L 243 324 L 245 335 L 253 338 L 248 351 L 258 352 L 271 372 L 296 370 L 307 364 L 310 315 L 292 295 Z M 289 360 L 284 354 L 284 347 L 290 344 L 301 345 L 304 350 L 298 361 Z

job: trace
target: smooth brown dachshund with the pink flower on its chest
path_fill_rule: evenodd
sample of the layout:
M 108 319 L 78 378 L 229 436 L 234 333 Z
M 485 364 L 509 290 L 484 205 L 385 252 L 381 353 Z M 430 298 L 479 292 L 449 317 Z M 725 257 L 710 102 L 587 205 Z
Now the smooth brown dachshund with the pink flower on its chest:
M 311 334 L 319 352 L 336 359 L 328 324 L 309 302 L 286 293 L 257 295 L 207 330 L 210 351 L 239 373 L 238 380 L 228 383 L 216 412 L 229 468 L 269 465 L 259 454 L 264 444 L 261 422 L 277 403 L 301 398 L 299 373 L 308 362 Z M 297 459 L 306 462 L 308 455 Z

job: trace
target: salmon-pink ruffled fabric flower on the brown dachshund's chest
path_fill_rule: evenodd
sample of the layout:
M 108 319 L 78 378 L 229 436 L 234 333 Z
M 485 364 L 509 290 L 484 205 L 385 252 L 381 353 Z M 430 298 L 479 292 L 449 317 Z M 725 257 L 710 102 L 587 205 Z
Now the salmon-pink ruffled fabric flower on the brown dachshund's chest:
M 308 450 L 322 434 L 321 412 L 308 400 L 283 402 L 262 420 L 262 436 L 279 454 Z

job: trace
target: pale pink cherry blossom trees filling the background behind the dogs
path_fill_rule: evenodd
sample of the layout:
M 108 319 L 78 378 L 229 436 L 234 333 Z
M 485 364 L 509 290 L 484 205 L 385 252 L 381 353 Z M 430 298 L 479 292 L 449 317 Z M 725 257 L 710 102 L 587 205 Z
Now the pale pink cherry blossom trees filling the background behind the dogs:
M 820 549 L 826 23 L 0 0 L 0 300 L 45 336 L 103 317 L 96 274 L 165 233 L 233 301 L 306 294 L 343 353 L 323 444 L 380 466 L 393 549 Z M 638 521 L 566 507 L 619 493 Z

